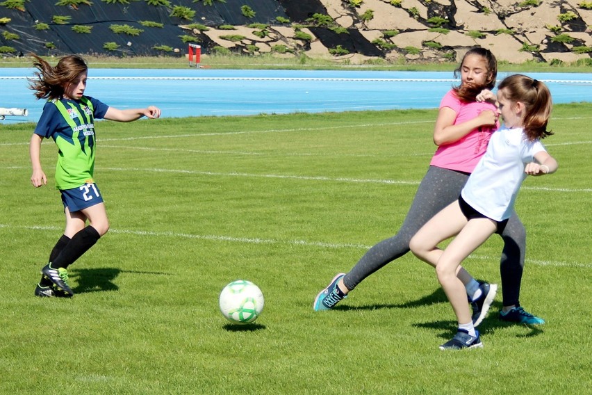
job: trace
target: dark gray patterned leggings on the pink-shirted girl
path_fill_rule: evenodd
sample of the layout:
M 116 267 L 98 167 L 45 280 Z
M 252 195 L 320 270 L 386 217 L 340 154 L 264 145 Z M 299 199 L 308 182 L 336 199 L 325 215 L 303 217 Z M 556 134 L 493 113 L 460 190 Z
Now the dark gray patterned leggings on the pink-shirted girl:
M 429 166 L 409 213 L 395 236 L 370 248 L 343 277 L 347 289 L 354 289 L 366 277 L 409 252 L 409 241 L 438 211 L 459 198 L 468 175 Z M 502 233 L 504 249 L 500 262 L 504 306 L 520 305 L 520 282 L 524 270 L 526 230 L 514 212 Z

